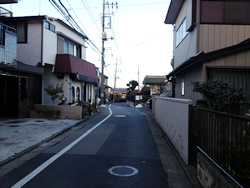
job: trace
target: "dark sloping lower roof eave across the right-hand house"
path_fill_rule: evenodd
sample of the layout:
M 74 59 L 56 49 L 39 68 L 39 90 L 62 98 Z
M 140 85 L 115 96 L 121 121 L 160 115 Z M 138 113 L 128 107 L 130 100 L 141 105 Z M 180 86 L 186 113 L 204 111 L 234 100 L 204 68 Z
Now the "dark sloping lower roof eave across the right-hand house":
M 190 57 L 188 60 L 186 60 L 180 66 L 175 68 L 168 75 L 174 76 L 199 63 L 210 61 L 212 59 L 217 59 L 217 58 L 227 56 L 233 53 L 241 52 L 244 50 L 250 50 L 250 38 L 239 44 L 236 44 L 230 47 L 222 48 L 222 49 L 215 50 L 215 51 L 208 52 L 208 53 L 200 52 L 196 56 Z

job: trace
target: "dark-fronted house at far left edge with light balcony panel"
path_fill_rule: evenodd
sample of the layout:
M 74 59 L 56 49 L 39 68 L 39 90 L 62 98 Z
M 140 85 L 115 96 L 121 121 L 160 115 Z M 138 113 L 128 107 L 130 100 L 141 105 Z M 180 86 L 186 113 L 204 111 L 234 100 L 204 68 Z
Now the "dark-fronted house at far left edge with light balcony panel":
M 41 103 L 43 68 L 18 61 L 17 40 L 16 29 L 0 20 L 0 118 L 27 117 Z

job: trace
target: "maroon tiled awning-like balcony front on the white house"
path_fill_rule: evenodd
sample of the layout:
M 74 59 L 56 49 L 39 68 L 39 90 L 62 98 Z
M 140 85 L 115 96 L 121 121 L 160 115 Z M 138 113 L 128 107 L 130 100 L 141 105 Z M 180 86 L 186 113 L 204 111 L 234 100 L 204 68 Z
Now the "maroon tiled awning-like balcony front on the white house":
M 81 81 L 98 83 L 95 65 L 69 54 L 57 54 L 55 73 L 74 73 Z

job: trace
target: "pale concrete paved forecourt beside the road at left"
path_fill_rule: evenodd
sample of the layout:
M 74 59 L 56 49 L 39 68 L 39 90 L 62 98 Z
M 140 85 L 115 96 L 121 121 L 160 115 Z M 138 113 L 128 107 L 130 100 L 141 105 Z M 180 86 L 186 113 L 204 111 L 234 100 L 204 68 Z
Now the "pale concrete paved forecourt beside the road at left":
M 0 164 L 79 122 L 31 118 L 0 122 Z

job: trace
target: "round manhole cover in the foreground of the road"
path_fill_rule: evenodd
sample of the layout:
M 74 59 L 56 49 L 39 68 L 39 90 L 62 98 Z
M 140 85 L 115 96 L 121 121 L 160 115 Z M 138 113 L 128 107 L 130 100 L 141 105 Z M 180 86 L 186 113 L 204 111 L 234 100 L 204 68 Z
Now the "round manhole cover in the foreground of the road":
M 120 165 L 111 167 L 108 172 L 114 176 L 129 177 L 138 174 L 139 170 L 132 166 Z

